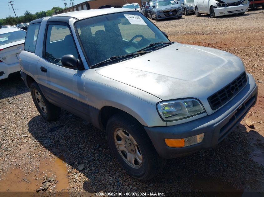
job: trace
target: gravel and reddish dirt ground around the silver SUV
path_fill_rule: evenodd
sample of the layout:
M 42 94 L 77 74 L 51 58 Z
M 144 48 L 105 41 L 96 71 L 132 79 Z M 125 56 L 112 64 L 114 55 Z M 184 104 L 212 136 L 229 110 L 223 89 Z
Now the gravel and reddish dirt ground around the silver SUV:
M 244 16 L 191 15 L 153 23 L 172 41 L 222 49 L 244 61 L 259 86 L 257 104 L 245 119 L 217 147 L 168 160 L 157 177 L 142 182 L 119 167 L 104 131 L 67 111 L 57 121 L 44 121 L 19 74 L 13 74 L 0 82 L 0 191 L 73 192 L 65 196 L 134 191 L 242 196 L 245 191 L 264 191 L 263 10 Z M 246 122 L 254 126 L 249 128 Z M 43 188 L 48 193 L 42 194 Z

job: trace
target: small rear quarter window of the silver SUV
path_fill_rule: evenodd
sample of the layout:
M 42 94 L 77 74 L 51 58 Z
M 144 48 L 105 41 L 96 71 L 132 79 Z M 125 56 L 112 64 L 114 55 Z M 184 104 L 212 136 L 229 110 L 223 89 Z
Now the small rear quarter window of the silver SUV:
M 31 24 L 27 28 L 24 50 L 35 53 L 40 23 Z

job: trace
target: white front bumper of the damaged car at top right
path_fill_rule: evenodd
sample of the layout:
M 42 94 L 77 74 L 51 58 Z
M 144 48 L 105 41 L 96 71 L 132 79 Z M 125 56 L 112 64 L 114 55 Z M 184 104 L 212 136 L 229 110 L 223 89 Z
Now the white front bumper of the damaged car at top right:
M 248 6 L 249 4 L 239 5 L 239 6 L 217 7 L 214 8 L 215 16 L 223 16 L 223 15 L 247 12 Z

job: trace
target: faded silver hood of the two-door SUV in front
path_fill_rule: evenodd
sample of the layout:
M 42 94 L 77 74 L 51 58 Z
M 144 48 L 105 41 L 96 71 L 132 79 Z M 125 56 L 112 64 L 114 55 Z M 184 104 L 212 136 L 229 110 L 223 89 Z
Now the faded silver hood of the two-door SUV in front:
M 244 71 L 244 64 L 235 55 L 179 43 L 96 68 L 100 75 L 146 91 L 162 100 L 194 97 L 202 103 Z

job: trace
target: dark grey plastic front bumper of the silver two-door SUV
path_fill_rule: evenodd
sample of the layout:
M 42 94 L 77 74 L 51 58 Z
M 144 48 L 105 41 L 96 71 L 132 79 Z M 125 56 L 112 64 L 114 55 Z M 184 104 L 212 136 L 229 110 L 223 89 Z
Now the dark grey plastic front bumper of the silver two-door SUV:
M 158 154 L 164 158 L 175 158 L 192 152 L 215 147 L 247 115 L 257 101 L 257 85 L 251 75 L 247 75 L 247 85 L 225 106 L 212 115 L 207 115 L 191 122 L 167 126 L 144 127 Z M 172 148 L 164 141 L 182 139 L 204 133 L 199 144 Z

